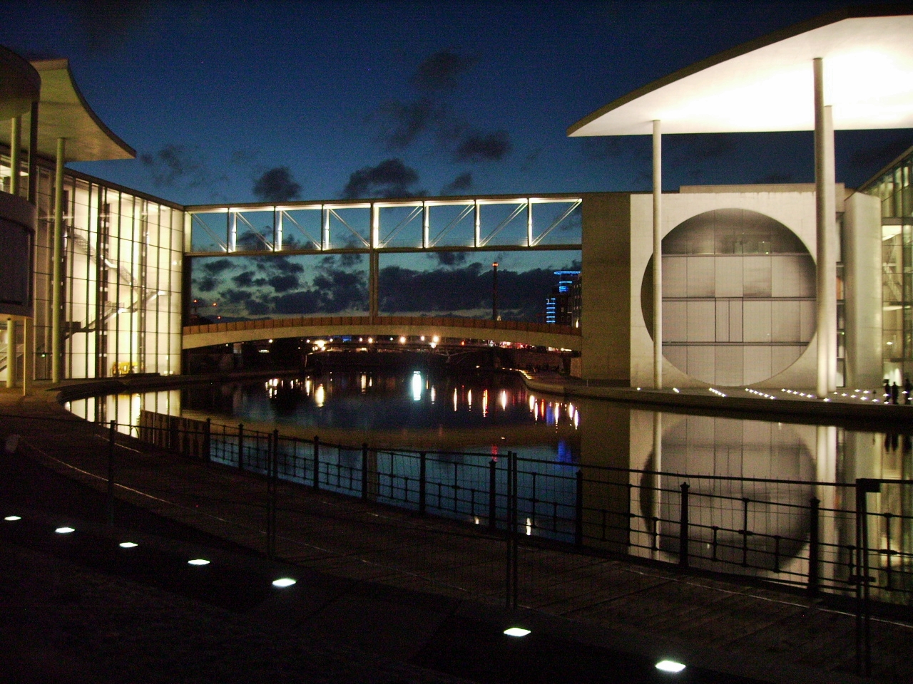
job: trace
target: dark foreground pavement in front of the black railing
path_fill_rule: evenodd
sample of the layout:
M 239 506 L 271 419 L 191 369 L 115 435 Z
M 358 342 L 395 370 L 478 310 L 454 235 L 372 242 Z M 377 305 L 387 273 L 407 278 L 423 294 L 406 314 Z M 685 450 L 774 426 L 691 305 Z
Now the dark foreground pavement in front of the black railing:
M 93 426 L 47 398 L 0 394 L 0 437 L 11 432 L 23 440 L 0 462 L 0 517 L 21 518 L 0 520 L 7 681 L 858 681 L 847 673 L 852 617 L 796 596 L 601 562 L 609 586 L 588 585 L 606 592 L 601 611 L 510 612 L 387 558 L 456 523 L 418 525 L 298 488 L 285 493 L 278 544 L 294 562 L 270 561 L 256 551 L 255 477 L 124 451 L 111 524 Z M 75 532 L 55 532 L 64 525 Z M 372 547 L 381 537 L 387 556 Z M 459 548 L 446 552 L 462 562 Z M 210 564 L 188 565 L 194 558 Z M 297 584 L 272 586 L 280 577 Z M 552 596 L 562 584 L 532 582 Z M 567 619 L 574 613 L 581 619 Z M 503 635 L 515 625 L 532 632 Z M 910 680 L 895 654 L 908 652 L 913 630 L 884 623 L 876 635 L 878 679 Z M 688 668 L 661 673 L 663 657 Z

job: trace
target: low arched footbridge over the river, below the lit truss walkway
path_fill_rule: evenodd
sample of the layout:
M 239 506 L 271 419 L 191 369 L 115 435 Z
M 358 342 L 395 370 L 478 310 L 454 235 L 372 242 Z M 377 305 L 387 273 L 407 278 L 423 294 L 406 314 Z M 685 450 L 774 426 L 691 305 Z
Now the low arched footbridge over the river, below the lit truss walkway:
M 582 346 L 580 328 L 543 323 L 427 316 L 298 316 L 185 326 L 182 347 L 195 349 L 278 337 L 340 335 L 485 339 L 573 351 L 579 351 Z

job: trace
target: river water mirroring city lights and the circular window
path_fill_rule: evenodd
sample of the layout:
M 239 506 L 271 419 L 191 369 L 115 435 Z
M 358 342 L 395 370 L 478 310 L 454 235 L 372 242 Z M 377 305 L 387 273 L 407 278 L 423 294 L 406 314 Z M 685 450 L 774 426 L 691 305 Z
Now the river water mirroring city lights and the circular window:
M 436 402 L 438 392 L 447 400 Z M 300 380 L 85 399 L 69 408 L 100 422 L 136 425 L 145 409 L 212 417 L 215 424 L 244 423 L 249 430 L 278 427 L 283 434 L 307 439 L 320 433 L 327 440 L 329 434 L 329 441 L 342 444 L 365 441 L 496 459 L 513 451 L 540 461 L 519 478 L 519 520 L 526 521 L 527 534 L 572 539 L 572 516 L 579 505 L 574 478 L 582 471 L 585 486 L 577 510 L 583 512 L 587 543 L 671 562 L 680 548 L 681 484 L 687 482 L 692 565 L 739 565 L 761 576 L 807 575 L 812 499 L 820 501 L 822 512 L 852 510 L 852 491 L 834 483 L 913 476 L 913 445 L 906 437 L 657 414 L 596 399 L 571 402 L 533 394 L 519 379 L 503 374 L 334 371 Z M 360 450 L 342 451 L 340 458 L 346 468 L 360 470 Z M 454 491 L 458 486 L 461 492 L 478 492 L 482 506 L 488 472 L 473 466 L 473 458 L 437 456 L 428 461 L 428 477 Z M 388 466 L 377 461 L 374 467 Z M 396 468 L 401 469 L 398 477 L 415 482 L 415 463 Z M 769 482 L 774 480 L 779 482 Z M 913 550 L 913 529 L 904 517 L 913 512 L 910 490 L 886 485 L 872 498 L 880 513 L 870 524 L 870 545 L 893 550 L 894 555 L 879 556 L 884 565 L 879 572 L 888 575 L 900 569 L 897 552 Z M 473 507 L 459 508 L 459 513 L 478 521 Z M 852 568 L 849 549 L 855 544 L 853 518 L 822 516 L 823 576 L 829 572 L 831 580 L 845 586 Z

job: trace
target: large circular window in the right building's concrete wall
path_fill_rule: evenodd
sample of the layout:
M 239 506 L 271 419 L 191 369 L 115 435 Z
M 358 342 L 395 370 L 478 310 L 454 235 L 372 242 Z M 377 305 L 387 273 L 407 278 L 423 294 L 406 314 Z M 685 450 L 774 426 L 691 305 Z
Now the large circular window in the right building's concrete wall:
M 663 239 L 663 355 L 692 378 L 750 385 L 789 368 L 814 335 L 814 262 L 782 223 L 717 209 Z M 641 285 L 653 332 L 653 258 Z

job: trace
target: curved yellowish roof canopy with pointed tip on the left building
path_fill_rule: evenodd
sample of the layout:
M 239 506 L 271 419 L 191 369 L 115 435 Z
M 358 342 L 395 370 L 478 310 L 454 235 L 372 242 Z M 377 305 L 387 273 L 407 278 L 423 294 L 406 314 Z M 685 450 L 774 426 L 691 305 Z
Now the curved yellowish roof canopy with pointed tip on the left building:
M 32 62 L 41 78 L 38 104 L 38 154 L 54 159 L 58 138 L 66 138 L 66 161 L 133 159 L 136 150 L 111 132 L 77 88 L 67 59 Z M 25 117 L 23 140 L 28 140 Z M 9 119 L 0 119 L 0 139 L 9 140 Z

